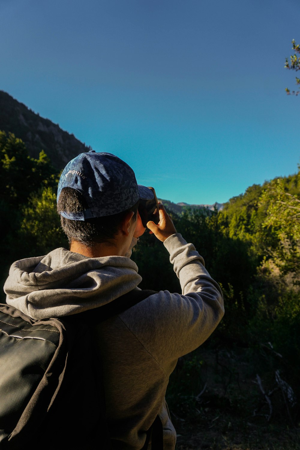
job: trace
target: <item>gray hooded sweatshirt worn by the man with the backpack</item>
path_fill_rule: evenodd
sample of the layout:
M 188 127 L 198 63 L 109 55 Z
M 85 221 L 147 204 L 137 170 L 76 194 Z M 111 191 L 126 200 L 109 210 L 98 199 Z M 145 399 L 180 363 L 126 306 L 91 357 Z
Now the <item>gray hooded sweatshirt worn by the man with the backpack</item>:
M 164 245 L 182 295 L 152 294 L 96 329 L 107 419 L 112 439 L 121 441 L 114 447 L 118 449 L 141 449 L 157 414 L 164 449 L 175 448 L 176 432 L 165 402 L 169 376 L 178 358 L 199 347 L 224 314 L 221 290 L 193 244 L 173 234 Z M 137 288 L 140 281 L 130 258 L 88 258 L 57 248 L 44 257 L 16 261 L 4 291 L 9 305 L 45 319 L 97 308 Z

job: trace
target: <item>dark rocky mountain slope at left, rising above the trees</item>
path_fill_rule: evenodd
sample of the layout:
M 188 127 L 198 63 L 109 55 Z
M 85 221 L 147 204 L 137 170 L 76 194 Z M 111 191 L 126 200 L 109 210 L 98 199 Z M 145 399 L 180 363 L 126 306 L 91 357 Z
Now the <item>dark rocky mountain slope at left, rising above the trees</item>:
M 40 117 L 3 90 L 0 90 L 0 130 L 22 139 L 31 157 L 38 158 L 40 151 L 44 150 L 58 170 L 79 153 L 90 149 L 74 135 Z

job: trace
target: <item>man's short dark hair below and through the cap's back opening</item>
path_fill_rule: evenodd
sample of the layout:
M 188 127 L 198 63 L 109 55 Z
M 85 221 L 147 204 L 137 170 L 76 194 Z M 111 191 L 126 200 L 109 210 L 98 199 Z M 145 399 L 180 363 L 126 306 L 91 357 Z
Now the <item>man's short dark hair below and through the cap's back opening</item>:
M 67 235 L 69 244 L 78 241 L 88 247 L 96 243 L 113 244 L 113 238 L 118 233 L 122 220 L 126 214 L 133 212 L 136 219 L 139 202 L 135 203 L 126 211 L 112 214 L 111 216 L 95 217 L 88 220 L 70 220 L 60 216 L 60 223 L 64 233 Z M 57 212 L 76 213 L 85 211 L 87 203 L 83 195 L 76 189 L 63 188 L 57 203 Z

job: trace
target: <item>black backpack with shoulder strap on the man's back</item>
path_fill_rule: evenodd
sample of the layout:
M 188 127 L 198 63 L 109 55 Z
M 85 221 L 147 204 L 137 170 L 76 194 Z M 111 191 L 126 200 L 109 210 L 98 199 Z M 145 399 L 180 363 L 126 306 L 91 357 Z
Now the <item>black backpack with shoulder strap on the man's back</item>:
M 91 325 L 154 291 L 134 290 L 107 305 L 60 319 L 33 320 L 0 305 L 0 449 L 110 449 L 99 357 Z M 101 392 L 102 389 L 102 392 Z M 147 432 L 162 444 L 159 417 Z M 118 447 L 121 449 L 121 447 Z

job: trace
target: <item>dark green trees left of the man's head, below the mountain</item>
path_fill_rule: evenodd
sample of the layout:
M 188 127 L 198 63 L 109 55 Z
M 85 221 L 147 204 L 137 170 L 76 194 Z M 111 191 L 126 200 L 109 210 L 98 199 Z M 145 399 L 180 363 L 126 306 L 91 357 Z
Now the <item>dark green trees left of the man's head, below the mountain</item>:
M 55 210 L 58 172 L 45 152 L 32 158 L 21 139 L 0 131 L 0 173 L 3 282 L 14 260 L 45 254 L 66 239 Z

